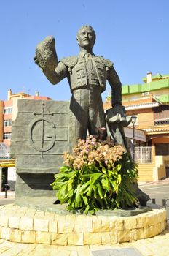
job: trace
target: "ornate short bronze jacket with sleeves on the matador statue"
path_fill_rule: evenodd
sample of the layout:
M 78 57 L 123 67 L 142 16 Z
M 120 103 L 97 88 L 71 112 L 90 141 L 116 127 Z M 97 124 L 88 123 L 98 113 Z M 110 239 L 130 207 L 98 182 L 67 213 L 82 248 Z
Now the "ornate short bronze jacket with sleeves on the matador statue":
M 71 92 L 90 86 L 100 86 L 101 91 L 106 89 L 106 80 L 111 86 L 112 105 L 122 102 L 122 84 L 119 76 L 109 59 L 102 56 L 80 52 L 78 56 L 63 58 L 58 62 L 55 71 L 45 71 L 51 83 L 59 83 L 63 78 L 68 78 Z

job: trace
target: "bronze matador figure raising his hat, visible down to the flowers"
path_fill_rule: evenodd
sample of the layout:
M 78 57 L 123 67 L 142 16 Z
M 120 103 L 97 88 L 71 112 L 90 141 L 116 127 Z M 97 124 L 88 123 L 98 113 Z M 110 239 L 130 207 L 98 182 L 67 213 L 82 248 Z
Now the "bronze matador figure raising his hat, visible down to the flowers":
M 91 26 L 82 26 L 77 33 L 79 55 L 57 60 L 55 39 L 47 37 L 36 48 L 34 58 L 50 83 L 57 84 L 68 78 L 72 97 L 70 101 L 71 143 L 79 138 L 97 135 L 98 127 L 106 127 L 101 93 L 106 89 L 106 80 L 111 86 L 114 113 L 125 113 L 122 107 L 122 84 L 109 59 L 95 56 L 95 31 Z M 106 132 L 105 132 L 106 134 Z M 115 138 L 116 139 L 116 138 Z M 124 144 L 124 143 L 123 143 Z

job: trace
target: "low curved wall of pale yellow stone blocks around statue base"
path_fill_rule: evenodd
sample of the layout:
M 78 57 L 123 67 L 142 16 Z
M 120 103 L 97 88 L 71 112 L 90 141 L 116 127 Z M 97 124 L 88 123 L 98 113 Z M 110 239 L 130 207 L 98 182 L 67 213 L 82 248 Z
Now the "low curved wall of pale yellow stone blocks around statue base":
M 132 217 L 58 215 L 16 205 L 0 206 L 0 238 L 18 243 L 118 244 L 157 236 L 165 208 Z

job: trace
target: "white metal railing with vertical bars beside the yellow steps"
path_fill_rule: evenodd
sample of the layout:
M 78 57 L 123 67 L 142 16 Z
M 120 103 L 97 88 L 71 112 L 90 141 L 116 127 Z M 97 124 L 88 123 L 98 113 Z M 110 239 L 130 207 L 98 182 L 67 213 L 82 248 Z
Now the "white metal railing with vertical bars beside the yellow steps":
M 140 146 L 135 147 L 135 162 L 138 164 L 152 163 L 152 147 Z M 130 153 L 133 156 L 133 148 L 130 148 Z

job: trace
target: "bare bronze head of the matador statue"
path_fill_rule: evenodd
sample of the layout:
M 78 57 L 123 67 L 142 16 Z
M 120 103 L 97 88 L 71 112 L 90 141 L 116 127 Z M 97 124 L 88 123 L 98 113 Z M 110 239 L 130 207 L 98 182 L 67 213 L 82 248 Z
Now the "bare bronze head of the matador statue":
M 80 48 L 92 50 L 95 44 L 95 31 L 92 26 L 84 25 L 77 32 L 76 36 Z

